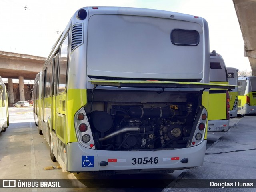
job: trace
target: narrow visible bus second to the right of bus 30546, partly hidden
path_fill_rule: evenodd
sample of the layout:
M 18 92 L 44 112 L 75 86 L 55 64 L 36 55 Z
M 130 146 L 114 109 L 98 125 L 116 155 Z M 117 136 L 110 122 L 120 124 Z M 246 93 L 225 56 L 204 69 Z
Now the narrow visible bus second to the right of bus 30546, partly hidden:
M 228 72 L 228 83 L 231 85 L 238 86 L 238 72 L 239 70 L 234 67 L 227 67 Z M 229 93 L 229 116 L 230 118 L 235 118 L 237 116 L 238 111 L 238 87 L 234 90 L 228 92 Z

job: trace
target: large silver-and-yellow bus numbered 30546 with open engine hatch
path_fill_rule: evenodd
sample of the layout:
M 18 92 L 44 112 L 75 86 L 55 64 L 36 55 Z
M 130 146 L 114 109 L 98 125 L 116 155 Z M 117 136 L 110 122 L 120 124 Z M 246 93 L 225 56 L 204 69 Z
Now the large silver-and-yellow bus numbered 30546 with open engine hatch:
M 184 57 L 186 53 L 186 57 Z M 202 166 L 210 51 L 197 16 L 85 7 L 42 68 L 38 126 L 69 172 L 109 174 Z

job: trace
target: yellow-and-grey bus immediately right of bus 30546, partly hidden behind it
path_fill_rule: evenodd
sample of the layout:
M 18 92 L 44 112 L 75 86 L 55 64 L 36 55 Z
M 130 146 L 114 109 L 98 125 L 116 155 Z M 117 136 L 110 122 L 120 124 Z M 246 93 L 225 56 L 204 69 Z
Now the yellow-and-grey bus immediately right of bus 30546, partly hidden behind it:
M 228 84 L 228 73 L 222 56 L 210 53 L 210 82 Z M 227 89 L 209 90 L 208 132 L 228 131 L 229 95 Z

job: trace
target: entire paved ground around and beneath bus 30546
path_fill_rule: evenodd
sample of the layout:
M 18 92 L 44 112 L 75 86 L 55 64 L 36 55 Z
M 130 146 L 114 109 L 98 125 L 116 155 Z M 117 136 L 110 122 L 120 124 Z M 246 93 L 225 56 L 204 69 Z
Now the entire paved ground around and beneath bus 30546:
M 68 179 L 76 188 L 46 189 L 20 188 L 5 191 L 88 191 L 88 192 L 171 192 L 171 191 L 256 191 L 254 189 L 193 189 L 182 187 L 185 179 L 244 179 L 256 178 L 256 150 L 212 154 L 218 152 L 256 148 L 256 116 L 230 120 L 228 132 L 209 132 L 204 165 L 176 171 L 172 174 L 141 174 L 121 176 L 95 176 L 88 173 L 70 173 L 57 169 L 58 163 L 50 160 L 49 145 L 34 124 L 32 108 L 9 108 L 10 127 L 0 133 L 0 179 Z M 53 170 L 44 170 L 52 166 Z M 182 173 L 182 174 L 181 174 Z M 179 176 L 180 175 L 180 176 Z M 178 178 L 177 178 L 178 177 Z M 175 178 L 180 180 L 174 180 Z M 120 179 L 118 181 L 118 179 Z M 116 180 L 120 188 L 106 187 L 106 182 Z M 122 181 L 122 183 L 121 183 Z M 137 182 L 136 182 L 137 181 Z M 104 183 L 105 182 L 105 183 Z M 161 183 L 159 188 L 151 184 Z M 115 185 L 115 184 L 114 184 Z M 113 185 L 113 186 L 114 186 Z M 125 187 L 128 185 L 129 187 Z M 133 187 L 131 187 L 133 186 Z M 143 188 L 142 188 L 143 186 Z M 82 187 L 82 188 L 79 188 Z M 86 188 L 87 187 L 87 188 Z M 170 188 L 173 187 L 173 188 Z

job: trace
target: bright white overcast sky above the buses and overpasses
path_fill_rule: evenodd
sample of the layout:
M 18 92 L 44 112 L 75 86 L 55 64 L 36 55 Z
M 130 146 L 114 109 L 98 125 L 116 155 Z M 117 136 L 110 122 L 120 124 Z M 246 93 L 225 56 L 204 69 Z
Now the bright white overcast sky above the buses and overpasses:
M 200 16 L 209 25 L 210 50 L 221 54 L 227 67 L 251 70 L 232 0 L 0 0 L 0 51 L 47 57 L 58 32 L 76 10 L 86 6 L 151 8 Z

